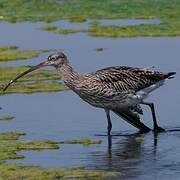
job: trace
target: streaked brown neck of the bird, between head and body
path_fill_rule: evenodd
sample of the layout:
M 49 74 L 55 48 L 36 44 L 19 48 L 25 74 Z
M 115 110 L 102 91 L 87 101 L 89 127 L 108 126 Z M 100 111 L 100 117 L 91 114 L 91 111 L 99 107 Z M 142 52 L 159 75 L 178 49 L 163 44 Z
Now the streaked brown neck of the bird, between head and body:
M 70 89 L 75 90 L 80 74 L 73 69 L 69 62 L 64 63 L 56 69 L 65 84 Z

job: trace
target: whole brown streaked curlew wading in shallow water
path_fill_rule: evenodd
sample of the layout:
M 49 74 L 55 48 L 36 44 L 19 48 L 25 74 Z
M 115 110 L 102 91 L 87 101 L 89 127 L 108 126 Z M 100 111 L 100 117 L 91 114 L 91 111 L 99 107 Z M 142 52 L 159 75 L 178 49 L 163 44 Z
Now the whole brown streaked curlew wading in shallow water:
M 141 104 L 151 109 L 154 131 L 164 131 L 158 126 L 155 108 L 152 102 L 144 99 L 150 92 L 164 84 L 165 79 L 173 78 L 175 72 L 162 73 L 148 68 L 133 68 L 115 66 L 98 70 L 94 73 L 80 74 L 70 65 L 62 52 L 51 54 L 46 61 L 31 67 L 11 80 L 4 91 L 17 79 L 36 69 L 53 66 L 64 80 L 65 84 L 92 106 L 103 108 L 108 120 L 108 135 L 111 133 L 110 111 L 138 128 L 148 132 L 150 128 L 140 121 L 143 114 Z

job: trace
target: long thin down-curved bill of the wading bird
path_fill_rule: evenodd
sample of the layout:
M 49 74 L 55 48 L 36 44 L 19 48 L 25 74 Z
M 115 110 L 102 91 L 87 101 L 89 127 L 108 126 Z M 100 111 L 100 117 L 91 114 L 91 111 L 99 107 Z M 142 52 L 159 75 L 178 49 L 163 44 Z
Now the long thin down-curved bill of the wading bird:
M 21 78 L 22 76 L 25 76 L 26 74 L 28 74 L 28 73 L 36 70 L 36 69 L 42 68 L 42 67 L 44 67 L 44 66 L 47 66 L 47 65 L 48 65 L 48 61 L 44 61 L 44 62 L 42 62 L 42 63 L 40 63 L 40 64 L 38 64 L 38 65 L 36 65 L 36 66 L 31 67 L 31 68 L 28 69 L 27 71 L 25 71 L 25 72 L 17 75 L 14 79 L 12 79 L 12 80 L 9 81 L 9 83 L 4 87 L 3 91 L 6 91 L 7 88 L 8 88 L 11 84 L 15 83 L 15 82 L 16 82 L 19 78 Z

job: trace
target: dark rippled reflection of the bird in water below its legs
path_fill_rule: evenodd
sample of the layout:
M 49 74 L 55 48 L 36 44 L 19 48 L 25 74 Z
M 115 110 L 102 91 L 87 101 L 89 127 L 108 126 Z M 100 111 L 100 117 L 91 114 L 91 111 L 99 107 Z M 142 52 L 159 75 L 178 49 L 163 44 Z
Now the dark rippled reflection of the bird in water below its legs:
M 150 165 L 156 161 L 157 145 L 158 133 L 111 135 L 107 138 L 107 151 L 91 153 L 88 166 L 117 171 L 122 173 L 123 177 L 138 176 L 146 160 Z

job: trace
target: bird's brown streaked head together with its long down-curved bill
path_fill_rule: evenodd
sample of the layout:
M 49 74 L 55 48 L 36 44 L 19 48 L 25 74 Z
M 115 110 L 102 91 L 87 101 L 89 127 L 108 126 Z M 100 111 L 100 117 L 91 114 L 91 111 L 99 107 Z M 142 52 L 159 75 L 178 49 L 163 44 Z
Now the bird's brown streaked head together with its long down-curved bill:
M 17 75 L 14 79 L 12 79 L 3 89 L 3 91 L 6 91 L 6 89 L 13 84 L 14 82 L 16 82 L 20 77 L 36 70 L 36 69 L 40 69 L 42 67 L 45 66 L 53 66 L 53 67 L 61 67 L 63 64 L 67 63 L 67 57 L 64 53 L 58 51 L 56 53 L 53 53 L 51 55 L 48 56 L 48 58 L 41 62 L 40 64 L 36 65 L 36 66 L 32 66 L 30 69 L 28 69 L 27 71 Z

